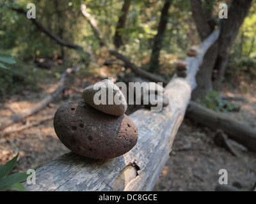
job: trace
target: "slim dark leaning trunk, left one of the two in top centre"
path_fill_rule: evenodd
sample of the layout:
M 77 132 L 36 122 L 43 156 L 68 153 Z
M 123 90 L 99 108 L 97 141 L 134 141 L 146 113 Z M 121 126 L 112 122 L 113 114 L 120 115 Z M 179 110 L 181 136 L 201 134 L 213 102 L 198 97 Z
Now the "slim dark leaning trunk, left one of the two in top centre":
M 119 29 L 123 29 L 125 27 L 125 21 L 129 12 L 130 5 L 131 5 L 131 0 L 124 0 L 122 15 L 118 19 L 118 22 L 116 25 L 116 33 L 114 36 L 114 45 L 116 48 L 119 48 L 123 44 L 122 34 L 120 33 Z

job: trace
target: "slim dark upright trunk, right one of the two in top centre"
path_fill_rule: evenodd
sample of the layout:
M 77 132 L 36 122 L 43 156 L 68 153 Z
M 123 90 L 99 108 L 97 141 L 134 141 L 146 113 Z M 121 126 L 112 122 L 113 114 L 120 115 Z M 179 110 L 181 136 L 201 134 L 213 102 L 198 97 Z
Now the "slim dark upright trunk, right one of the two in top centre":
M 161 11 L 161 18 L 157 29 L 157 34 L 154 38 L 154 45 L 149 62 L 149 71 L 156 72 L 159 66 L 159 54 L 162 48 L 162 41 L 164 39 L 164 32 L 166 24 L 168 23 L 168 10 L 172 4 L 172 0 L 166 0 Z

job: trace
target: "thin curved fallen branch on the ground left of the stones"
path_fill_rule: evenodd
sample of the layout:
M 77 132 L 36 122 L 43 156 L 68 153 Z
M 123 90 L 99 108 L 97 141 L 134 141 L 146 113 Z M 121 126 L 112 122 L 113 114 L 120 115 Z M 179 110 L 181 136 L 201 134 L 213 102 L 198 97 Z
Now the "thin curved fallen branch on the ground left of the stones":
M 10 117 L 10 119 L 8 119 L 8 120 L 4 121 L 2 124 L 0 124 L 0 130 L 7 128 L 8 126 L 11 126 L 15 122 L 19 122 L 20 120 L 28 117 L 29 115 L 33 115 L 33 114 L 39 112 L 40 110 L 44 109 L 49 103 L 51 103 L 51 101 L 53 101 L 63 91 L 63 89 L 65 88 L 65 82 L 67 81 L 68 74 L 74 73 L 77 70 L 77 68 L 79 68 L 80 65 L 81 64 L 79 63 L 76 66 L 74 66 L 74 68 L 66 69 L 61 74 L 59 85 L 54 92 L 52 92 L 47 97 L 42 99 L 42 101 L 36 103 L 35 105 L 31 106 L 30 108 L 27 108 L 20 113 L 12 115 Z

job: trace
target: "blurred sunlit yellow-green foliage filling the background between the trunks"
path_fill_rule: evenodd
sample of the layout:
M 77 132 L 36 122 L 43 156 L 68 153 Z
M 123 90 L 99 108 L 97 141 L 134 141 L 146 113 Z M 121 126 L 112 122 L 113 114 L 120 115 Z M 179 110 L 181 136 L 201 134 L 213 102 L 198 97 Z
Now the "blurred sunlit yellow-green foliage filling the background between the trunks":
M 208 13 L 211 13 L 210 11 L 214 13 L 219 11 L 218 6 L 216 6 L 219 2 L 217 0 L 202 0 L 202 6 L 204 6 L 205 11 L 209 11 Z M 110 49 L 113 48 L 113 36 L 118 17 L 122 14 L 121 10 L 124 1 L 31 0 L 29 3 L 36 5 L 36 20 L 52 34 L 64 41 L 76 43 L 83 47 L 84 50 L 90 45 L 93 55 L 98 55 L 99 59 L 102 56 L 99 57 L 97 52 L 103 51 L 99 46 L 99 41 L 95 38 L 91 25 L 81 13 L 81 4 L 86 4 L 87 11 L 96 20 L 106 45 Z M 186 55 L 186 50 L 188 50 L 191 44 L 198 45 L 200 43 L 195 22 L 192 18 L 190 3 L 189 0 L 173 0 L 170 6 L 168 25 L 159 57 L 160 64 L 164 64 L 168 69 L 172 69 L 172 64 L 175 62 L 175 60 L 168 60 L 168 55 L 180 54 L 183 57 Z M 46 34 L 42 33 L 25 15 L 10 10 L 12 6 L 28 10 L 26 8 L 27 4 L 27 0 L 0 1 L 1 50 L 4 51 L 4 54 L 11 54 L 24 62 L 24 64 L 19 64 L 19 66 L 12 66 L 13 64 L 6 64 L 0 58 L 0 96 L 7 92 L 9 94 L 17 92 L 17 87 L 20 84 L 36 84 L 36 80 L 41 79 L 35 76 L 37 71 L 31 71 L 35 66 L 33 67 L 29 63 L 33 63 L 35 58 L 58 57 L 62 56 L 63 53 L 65 53 L 65 61 L 69 58 L 74 61 L 81 60 L 84 62 L 90 58 L 90 56 L 86 56 L 86 52 L 81 53 L 77 50 L 61 47 Z M 129 59 L 134 64 L 145 69 L 148 68 L 148 56 L 150 56 L 152 51 L 152 43 L 157 33 L 163 4 L 164 1 L 157 0 L 132 0 L 125 27 L 119 30 L 122 33 L 122 41 L 124 42 L 119 51 L 129 56 Z M 230 76 L 233 76 L 234 73 L 239 74 L 241 70 L 246 71 L 245 67 L 248 69 L 248 74 L 255 75 L 255 69 L 253 69 L 253 66 L 255 67 L 253 56 L 256 55 L 255 8 L 256 3 L 254 2 L 248 17 L 244 20 L 243 27 L 241 27 L 237 37 L 238 40 L 232 49 L 232 59 L 235 59 L 235 61 L 229 63 L 231 68 L 227 69 L 227 71 L 229 71 L 228 75 L 230 74 Z M 251 60 L 248 59 L 246 62 L 245 59 L 243 62 L 238 61 L 242 56 L 247 57 L 249 55 Z M 12 59 L 7 59 L 7 61 L 12 62 Z M 26 63 L 29 64 L 29 68 L 24 68 L 24 66 L 27 66 Z M 244 63 L 247 64 L 241 66 Z M 9 71 L 3 69 L 8 67 L 12 69 L 8 69 Z M 87 65 L 86 69 L 88 69 Z M 60 73 L 61 70 L 52 71 L 51 77 L 55 75 L 58 78 Z M 88 73 L 88 71 L 84 71 L 84 73 Z M 167 71 L 159 69 L 159 73 L 163 76 Z

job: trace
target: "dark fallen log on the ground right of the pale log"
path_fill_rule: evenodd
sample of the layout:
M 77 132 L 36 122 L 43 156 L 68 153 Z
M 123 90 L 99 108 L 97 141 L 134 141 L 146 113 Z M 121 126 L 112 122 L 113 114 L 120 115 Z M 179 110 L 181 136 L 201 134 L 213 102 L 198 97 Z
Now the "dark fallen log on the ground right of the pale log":
M 256 130 L 247 124 L 231 119 L 225 113 L 214 112 L 191 101 L 186 117 L 214 131 L 222 129 L 230 139 L 241 143 L 249 150 L 256 151 Z

